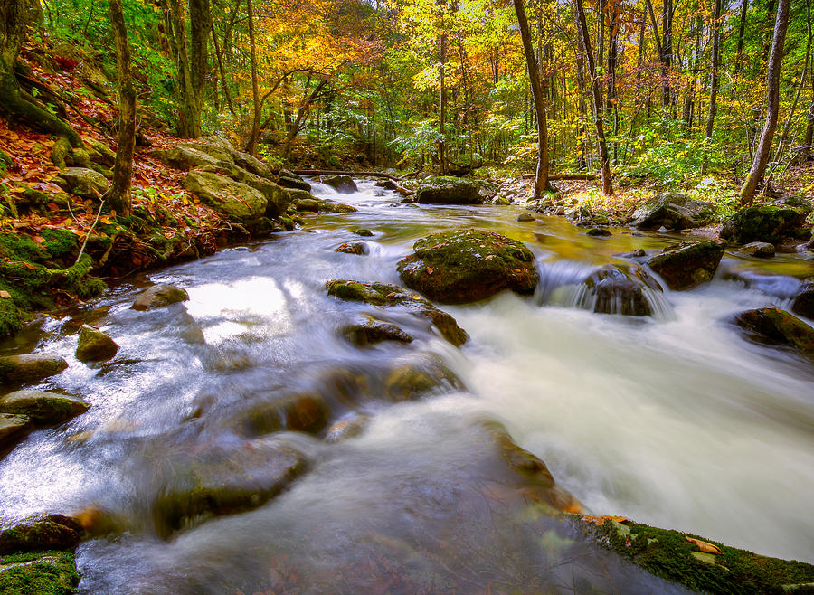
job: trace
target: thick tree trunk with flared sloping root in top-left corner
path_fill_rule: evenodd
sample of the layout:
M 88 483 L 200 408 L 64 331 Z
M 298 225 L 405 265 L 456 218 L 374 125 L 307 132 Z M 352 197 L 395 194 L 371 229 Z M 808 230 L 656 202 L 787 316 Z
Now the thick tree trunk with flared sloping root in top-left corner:
M 81 146 L 76 130 L 38 105 L 35 99 L 25 97 L 14 75 L 14 61 L 23 47 L 28 27 L 41 17 L 38 0 L 0 2 L 0 114 L 40 132 L 65 137 L 71 146 Z

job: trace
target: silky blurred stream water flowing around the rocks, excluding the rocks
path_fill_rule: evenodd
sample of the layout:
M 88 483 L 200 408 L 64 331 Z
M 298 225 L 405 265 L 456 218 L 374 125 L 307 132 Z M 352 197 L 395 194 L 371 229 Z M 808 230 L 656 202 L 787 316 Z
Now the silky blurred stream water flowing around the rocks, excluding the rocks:
M 704 287 L 646 291 L 651 316 L 596 314 L 582 284 L 592 271 L 625 269 L 634 260 L 620 254 L 683 238 L 592 238 L 559 218 L 516 222 L 520 207 L 401 204 L 359 185 L 350 195 L 314 189 L 357 213 L 311 216 L 303 230 L 132 279 L 0 345 L 61 354 L 70 367 L 39 388 L 93 405 L 0 461 L 2 515 L 90 507 L 113 519 L 80 545 L 80 592 L 676 590 L 519 505 L 483 448 L 484 420 L 502 423 L 594 514 L 814 562 L 814 367 L 747 342 L 728 321 L 788 306 L 810 262 L 727 254 Z M 525 241 L 541 271 L 535 297 L 443 307 L 469 333 L 460 349 L 398 313 L 382 316 L 410 331 L 411 345 L 342 338 L 337 329 L 371 307 L 328 297 L 328 279 L 399 283 L 395 264 L 412 241 L 461 226 Z M 334 251 L 360 228 L 374 231 L 369 255 Z M 148 282 L 183 287 L 190 301 L 130 310 Z M 114 361 L 75 360 L 81 322 L 121 345 Z M 431 357 L 466 388 L 380 398 L 394 365 Z M 348 371 L 366 388 L 348 388 Z M 247 408 L 295 392 L 325 395 L 334 418 L 364 413 L 364 432 L 336 444 L 273 433 L 308 459 L 288 490 L 162 533 L 152 515 L 159 469 L 211 445 L 241 448 Z

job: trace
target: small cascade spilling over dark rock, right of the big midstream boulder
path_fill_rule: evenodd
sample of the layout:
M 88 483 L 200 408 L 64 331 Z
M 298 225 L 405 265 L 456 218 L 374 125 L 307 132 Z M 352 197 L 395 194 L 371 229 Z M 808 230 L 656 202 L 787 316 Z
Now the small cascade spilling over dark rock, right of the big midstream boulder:
M 638 265 L 587 266 L 572 260 L 540 263 L 535 300 L 598 314 L 669 320 L 673 309 L 656 279 Z

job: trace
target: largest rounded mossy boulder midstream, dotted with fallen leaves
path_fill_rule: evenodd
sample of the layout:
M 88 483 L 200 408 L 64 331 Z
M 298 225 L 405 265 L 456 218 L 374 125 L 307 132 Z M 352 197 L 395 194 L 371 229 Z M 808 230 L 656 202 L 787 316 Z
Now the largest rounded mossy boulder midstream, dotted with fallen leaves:
M 448 304 L 474 302 L 504 289 L 535 290 L 535 257 L 523 243 L 493 231 L 440 231 L 412 245 L 399 261 L 408 288 Z

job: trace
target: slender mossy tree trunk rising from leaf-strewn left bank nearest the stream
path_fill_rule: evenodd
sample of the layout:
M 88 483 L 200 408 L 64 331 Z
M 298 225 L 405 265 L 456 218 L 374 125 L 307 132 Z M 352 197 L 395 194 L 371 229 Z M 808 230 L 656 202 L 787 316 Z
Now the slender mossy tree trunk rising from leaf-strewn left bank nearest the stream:
M 133 178 L 133 148 L 136 146 L 136 89 L 130 73 L 130 44 L 125 28 L 121 0 L 108 0 L 110 24 L 116 42 L 118 80 L 118 143 L 113 183 L 106 194 L 110 208 L 124 216 L 130 214 L 130 184 Z

